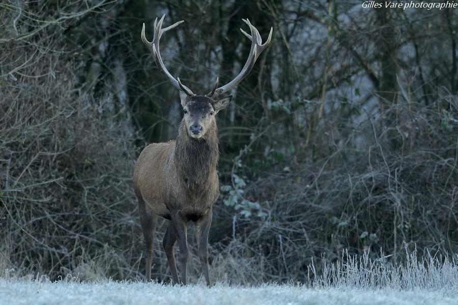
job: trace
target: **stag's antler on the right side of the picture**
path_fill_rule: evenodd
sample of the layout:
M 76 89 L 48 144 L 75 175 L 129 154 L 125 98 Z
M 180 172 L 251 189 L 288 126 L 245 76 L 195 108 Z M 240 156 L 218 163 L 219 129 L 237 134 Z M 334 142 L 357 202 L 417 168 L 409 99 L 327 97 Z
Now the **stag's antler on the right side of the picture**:
M 248 33 L 243 31 L 243 29 L 240 29 L 240 31 L 242 31 L 242 33 L 246 37 L 248 37 L 249 40 L 251 40 L 250 54 L 248 55 L 248 59 L 246 60 L 245 66 L 243 66 L 242 71 L 240 71 L 239 75 L 237 75 L 236 78 L 234 78 L 231 82 L 216 89 L 216 86 L 218 83 L 218 80 L 217 80 L 215 87 L 213 88 L 212 92 L 208 94 L 208 97 L 222 95 L 228 92 L 229 90 L 233 89 L 235 86 L 237 86 L 242 81 L 242 79 L 244 79 L 251 72 L 251 69 L 253 69 L 253 66 L 254 66 L 254 63 L 256 62 L 257 57 L 259 57 L 261 52 L 264 51 L 270 44 L 270 41 L 272 39 L 272 31 L 273 31 L 272 27 L 270 28 L 270 33 L 269 33 L 269 37 L 267 38 L 267 41 L 264 44 L 262 44 L 263 41 L 261 39 L 261 35 L 259 34 L 259 31 L 257 31 L 257 29 L 250 23 L 248 19 L 242 19 L 242 20 L 243 22 L 248 24 L 248 26 L 250 27 L 250 31 L 251 31 L 251 35 L 248 35 Z

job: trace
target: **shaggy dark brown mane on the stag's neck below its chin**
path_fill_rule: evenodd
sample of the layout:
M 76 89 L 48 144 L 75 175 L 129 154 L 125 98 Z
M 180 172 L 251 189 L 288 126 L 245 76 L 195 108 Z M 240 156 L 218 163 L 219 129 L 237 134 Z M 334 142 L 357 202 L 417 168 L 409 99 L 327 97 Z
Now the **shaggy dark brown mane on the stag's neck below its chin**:
M 181 121 L 175 146 L 175 163 L 178 175 L 188 188 L 203 188 L 219 159 L 218 129 L 213 122 L 202 138 L 188 135 L 184 120 Z

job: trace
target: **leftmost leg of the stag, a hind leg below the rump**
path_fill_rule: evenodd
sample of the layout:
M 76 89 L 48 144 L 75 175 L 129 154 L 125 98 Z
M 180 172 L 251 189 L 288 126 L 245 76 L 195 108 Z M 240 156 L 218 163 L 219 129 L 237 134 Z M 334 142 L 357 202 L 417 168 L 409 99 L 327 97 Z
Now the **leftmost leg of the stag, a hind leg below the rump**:
M 157 215 L 145 205 L 145 201 L 138 196 L 138 210 L 140 212 L 140 223 L 145 237 L 146 246 L 146 275 L 145 280 L 151 281 L 151 266 L 153 264 L 153 238 L 156 229 Z

